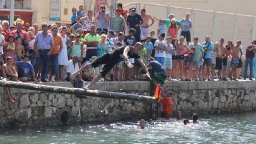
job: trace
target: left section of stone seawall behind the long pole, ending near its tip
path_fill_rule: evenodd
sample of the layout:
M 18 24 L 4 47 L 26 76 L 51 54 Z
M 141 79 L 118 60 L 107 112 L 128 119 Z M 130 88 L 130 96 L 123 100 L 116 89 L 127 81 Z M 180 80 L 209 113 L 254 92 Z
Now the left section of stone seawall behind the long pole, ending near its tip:
M 53 86 L 72 87 L 70 83 L 47 83 Z M 99 82 L 93 89 L 121 93 L 149 95 L 148 82 Z M 0 127 L 36 127 L 86 122 L 117 121 L 148 118 L 149 104 L 129 100 L 97 97 L 80 98 L 76 95 L 41 93 L 12 88 L 17 96 L 14 104 L 7 102 L 7 95 L 0 88 Z M 68 116 L 68 119 L 67 119 Z

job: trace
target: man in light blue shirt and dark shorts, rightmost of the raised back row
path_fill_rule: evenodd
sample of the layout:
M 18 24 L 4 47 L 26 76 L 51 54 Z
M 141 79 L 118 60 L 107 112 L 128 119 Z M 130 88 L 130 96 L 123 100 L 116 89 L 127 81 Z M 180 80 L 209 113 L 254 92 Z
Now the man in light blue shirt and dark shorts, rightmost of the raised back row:
M 192 21 L 189 19 L 190 14 L 186 13 L 186 17 L 184 19 L 181 19 L 181 25 L 179 28 L 181 28 L 181 36 L 184 36 L 187 40 L 187 45 L 189 45 L 189 42 L 191 41 L 191 35 L 190 35 L 190 29 L 192 28 Z

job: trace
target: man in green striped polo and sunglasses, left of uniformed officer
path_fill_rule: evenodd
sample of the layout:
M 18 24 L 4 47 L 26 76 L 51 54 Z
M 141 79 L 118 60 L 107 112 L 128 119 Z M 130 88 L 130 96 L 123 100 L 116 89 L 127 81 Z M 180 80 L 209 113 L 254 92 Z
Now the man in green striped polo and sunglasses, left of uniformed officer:
M 125 19 L 120 15 L 120 13 L 121 9 L 116 9 L 115 16 L 113 16 L 111 19 L 110 29 L 112 29 L 115 33 L 123 32 L 125 29 Z

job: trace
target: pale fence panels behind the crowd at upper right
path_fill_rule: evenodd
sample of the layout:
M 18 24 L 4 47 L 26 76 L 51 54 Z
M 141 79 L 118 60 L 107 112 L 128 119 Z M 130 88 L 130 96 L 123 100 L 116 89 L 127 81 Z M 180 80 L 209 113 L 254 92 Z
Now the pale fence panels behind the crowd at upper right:
M 137 12 L 140 11 L 140 3 L 128 3 L 125 7 L 136 6 Z M 220 38 L 227 40 L 242 40 L 242 45 L 250 45 L 251 40 L 256 38 L 256 17 L 253 15 L 241 15 L 235 13 L 225 13 L 212 10 L 200 10 L 192 8 L 175 7 L 154 3 L 144 3 L 143 8 L 147 13 L 159 18 L 168 18 L 170 13 L 175 14 L 176 19 L 182 19 L 186 13 L 191 13 L 193 28 L 191 36 L 198 36 L 200 41 L 209 35 L 212 41 L 219 41 Z M 156 22 L 151 30 L 156 30 Z

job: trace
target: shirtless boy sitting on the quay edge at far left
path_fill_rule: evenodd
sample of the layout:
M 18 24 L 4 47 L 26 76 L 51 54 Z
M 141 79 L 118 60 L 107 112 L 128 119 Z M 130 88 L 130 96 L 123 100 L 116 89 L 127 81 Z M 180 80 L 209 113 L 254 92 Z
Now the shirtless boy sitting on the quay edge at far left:
M 13 66 L 13 58 L 8 56 L 6 58 L 6 64 L 3 65 L 4 72 L 9 80 L 12 81 L 19 81 L 18 80 L 18 73 Z

